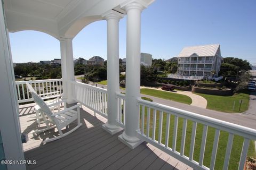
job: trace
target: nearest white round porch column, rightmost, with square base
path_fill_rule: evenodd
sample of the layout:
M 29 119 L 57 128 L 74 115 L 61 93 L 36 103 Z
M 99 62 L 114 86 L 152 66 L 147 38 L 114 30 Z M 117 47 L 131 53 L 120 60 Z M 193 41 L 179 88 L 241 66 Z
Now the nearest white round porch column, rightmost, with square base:
M 121 6 L 122 7 L 122 6 Z M 139 129 L 139 107 L 137 98 L 140 97 L 140 17 L 144 6 L 135 1 L 124 5 L 127 13 L 126 34 L 126 94 L 125 94 L 125 131 L 118 139 L 130 148 L 140 145 L 142 140 L 137 138 Z

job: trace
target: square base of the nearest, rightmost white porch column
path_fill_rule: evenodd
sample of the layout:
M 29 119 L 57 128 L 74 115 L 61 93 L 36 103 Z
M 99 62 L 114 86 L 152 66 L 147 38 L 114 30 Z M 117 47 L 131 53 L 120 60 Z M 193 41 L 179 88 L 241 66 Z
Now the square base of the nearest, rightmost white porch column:
M 128 139 L 128 140 L 127 140 Z M 128 137 L 125 132 L 118 136 L 118 140 L 123 142 L 127 147 L 134 149 L 138 147 L 143 140 L 136 137 Z M 132 141 L 132 142 L 131 142 Z

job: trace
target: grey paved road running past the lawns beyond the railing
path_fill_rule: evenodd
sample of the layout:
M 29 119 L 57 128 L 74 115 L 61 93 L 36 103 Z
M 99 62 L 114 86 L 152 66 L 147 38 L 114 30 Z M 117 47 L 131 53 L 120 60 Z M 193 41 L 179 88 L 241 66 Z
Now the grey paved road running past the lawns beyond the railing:
M 107 89 L 107 86 L 102 84 L 97 84 L 97 86 Z M 121 90 L 121 91 L 125 92 L 125 90 Z M 149 97 L 153 99 L 153 101 L 156 103 L 180 108 L 185 111 L 194 112 L 204 116 L 217 118 L 218 120 L 235 123 L 238 125 L 246 126 L 248 128 L 256 129 L 256 92 L 251 93 L 249 109 L 244 113 L 224 113 L 224 112 L 212 111 L 210 109 L 205 109 L 197 106 L 182 104 L 176 101 L 166 100 L 166 99 L 153 97 L 149 95 L 141 95 L 141 96 Z

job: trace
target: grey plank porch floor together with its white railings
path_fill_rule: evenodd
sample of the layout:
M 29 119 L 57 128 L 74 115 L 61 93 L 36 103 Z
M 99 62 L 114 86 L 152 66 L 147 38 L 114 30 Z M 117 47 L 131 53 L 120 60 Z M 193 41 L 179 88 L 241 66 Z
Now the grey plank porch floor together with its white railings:
M 243 139 L 238 160 L 238 169 L 243 169 L 249 142 L 256 140 L 254 129 L 137 98 L 139 129 L 136 133 L 144 142 L 130 149 L 118 140 L 122 131 L 111 135 L 101 128 L 109 118 L 108 90 L 72 81 L 68 82 L 69 90 L 73 100 L 83 105 L 80 108 L 83 125 L 67 137 L 44 144 L 42 140 L 59 134 L 56 130 L 33 134 L 38 129 L 33 117 L 34 104 L 21 105 L 32 100 L 26 82 L 38 93 L 62 92 L 63 82 L 61 79 L 17 82 L 21 131 L 29 137 L 23 144 L 25 158 L 36 160 L 36 164 L 27 165 L 27 169 L 214 169 L 223 133 L 228 137 L 226 154 L 221 158 L 223 169 L 232 164 L 229 160 L 234 136 Z M 130 123 L 126 119 L 126 96 L 116 92 L 115 98 L 118 107 L 115 124 L 125 130 Z M 73 124 L 63 131 L 72 127 Z M 210 139 L 211 153 L 206 154 L 209 131 L 214 137 Z M 208 161 L 204 162 L 205 159 Z

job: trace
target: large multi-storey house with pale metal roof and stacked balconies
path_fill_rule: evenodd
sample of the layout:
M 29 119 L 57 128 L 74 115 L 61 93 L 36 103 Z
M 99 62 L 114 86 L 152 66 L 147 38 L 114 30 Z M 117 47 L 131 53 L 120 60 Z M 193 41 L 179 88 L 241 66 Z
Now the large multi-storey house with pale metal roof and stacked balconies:
M 178 75 L 218 75 L 221 58 L 219 44 L 185 47 L 178 55 Z

